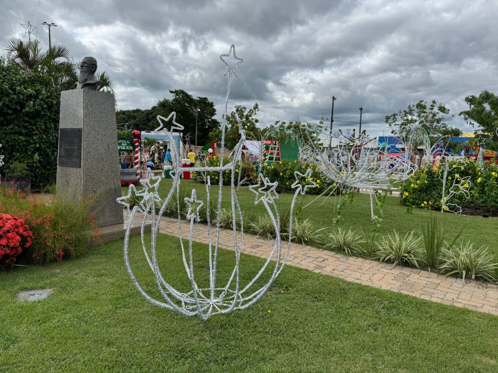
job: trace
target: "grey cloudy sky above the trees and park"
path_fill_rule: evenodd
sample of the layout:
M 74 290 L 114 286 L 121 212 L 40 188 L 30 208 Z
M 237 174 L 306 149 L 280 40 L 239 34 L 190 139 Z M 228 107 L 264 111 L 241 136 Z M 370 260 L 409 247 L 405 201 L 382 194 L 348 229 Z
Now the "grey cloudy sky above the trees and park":
M 75 60 L 94 56 L 117 83 L 118 108 L 149 108 L 169 90 L 214 101 L 219 119 L 227 77 L 219 55 L 231 44 L 244 59 L 229 110 L 259 103 L 263 125 L 275 120 L 363 126 L 378 135 L 387 114 L 420 99 L 450 108 L 498 93 L 498 1 L 340 0 L 0 0 L 0 43 L 37 26 L 48 45 Z M 168 114 L 168 113 L 165 113 Z

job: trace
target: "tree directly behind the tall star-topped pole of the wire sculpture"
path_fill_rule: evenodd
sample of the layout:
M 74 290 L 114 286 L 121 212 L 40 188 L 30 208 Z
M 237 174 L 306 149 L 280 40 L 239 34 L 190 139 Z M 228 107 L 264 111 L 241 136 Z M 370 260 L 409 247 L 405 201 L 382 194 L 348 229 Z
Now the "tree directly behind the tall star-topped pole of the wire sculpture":
M 257 102 L 249 110 L 246 106 L 235 106 L 235 110 L 227 116 L 227 128 L 225 129 L 226 148 L 235 148 L 241 140 L 241 129 L 246 131 L 248 138 L 259 139 L 261 137 L 261 129 L 256 125 L 259 122 L 259 119 L 256 118 L 258 110 L 259 105 Z M 209 137 L 216 142 L 217 146 L 221 146 L 222 129 L 212 131 Z

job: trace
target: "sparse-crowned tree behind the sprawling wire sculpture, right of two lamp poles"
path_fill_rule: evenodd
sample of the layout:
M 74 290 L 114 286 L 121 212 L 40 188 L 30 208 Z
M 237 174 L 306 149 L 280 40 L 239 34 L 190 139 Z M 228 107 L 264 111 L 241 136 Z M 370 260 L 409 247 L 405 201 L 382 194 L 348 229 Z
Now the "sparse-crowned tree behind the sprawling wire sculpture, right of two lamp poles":
M 460 136 L 462 131 L 445 123 L 450 110 L 433 99 L 430 104 L 424 100 L 409 104 L 406 109 L 386 115 L 385 123 L 391 133 L 404 137 L 416 126 L 424 128 L 430 137 Z

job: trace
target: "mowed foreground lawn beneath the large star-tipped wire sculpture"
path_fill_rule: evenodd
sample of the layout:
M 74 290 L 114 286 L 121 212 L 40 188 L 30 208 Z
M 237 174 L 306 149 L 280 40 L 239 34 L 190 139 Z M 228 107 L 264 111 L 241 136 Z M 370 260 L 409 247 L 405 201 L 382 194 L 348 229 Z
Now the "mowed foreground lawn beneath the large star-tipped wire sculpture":
M 133 270 L 157 295 L 139 243 Z M 178 239 L 159 235 L 158 247 L 166 279 L 188 288 Z M 194 245 L 200 282 L 207 250 Z M 225 279 L 233 257 L 220 253 Z M 243 256 L 242 282 L 262 263 Z M 0 372 L 498 372 L 498 317 L 290 266 L 253 306 L 207 322 L 142 298 L 122 240 L 0 272 L 0 284 Z M 39 288 L 54 293 L 17 302 Z

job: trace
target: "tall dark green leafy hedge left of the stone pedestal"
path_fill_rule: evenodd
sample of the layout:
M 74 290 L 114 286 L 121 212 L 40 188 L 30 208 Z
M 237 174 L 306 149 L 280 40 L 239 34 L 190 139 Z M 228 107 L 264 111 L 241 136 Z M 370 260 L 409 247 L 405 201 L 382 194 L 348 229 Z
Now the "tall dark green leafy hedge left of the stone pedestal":
M 28 166 L 31 187 L 55 178 L 60 93 L 49 75 L 23 74 L 0 58 L 0 139 L 6 165 Z

